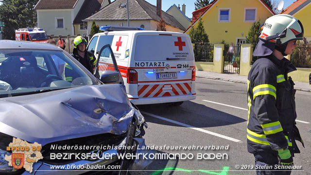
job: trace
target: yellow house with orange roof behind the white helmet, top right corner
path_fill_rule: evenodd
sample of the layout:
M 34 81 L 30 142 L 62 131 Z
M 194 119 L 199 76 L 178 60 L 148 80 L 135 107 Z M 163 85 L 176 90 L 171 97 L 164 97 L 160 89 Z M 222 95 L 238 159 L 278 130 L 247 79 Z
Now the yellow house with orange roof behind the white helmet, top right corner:
M 304 37 L 311 40 L 311 0 L 296 0 L 293 4 L 284 9 L 280 14 L 292 15 L 299 19 L 304 28 Z

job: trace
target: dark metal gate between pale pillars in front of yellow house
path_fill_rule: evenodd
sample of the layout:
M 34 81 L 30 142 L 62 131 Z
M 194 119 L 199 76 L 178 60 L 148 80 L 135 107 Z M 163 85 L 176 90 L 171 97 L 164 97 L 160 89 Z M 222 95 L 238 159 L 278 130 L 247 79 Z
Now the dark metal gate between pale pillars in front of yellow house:
M 225 73 L 240 73 L 240 57 L 241 45 L 234 46 L 234 53 L 228 53 L 229 45 L 225 45 L 224 49 L 224 72 Z

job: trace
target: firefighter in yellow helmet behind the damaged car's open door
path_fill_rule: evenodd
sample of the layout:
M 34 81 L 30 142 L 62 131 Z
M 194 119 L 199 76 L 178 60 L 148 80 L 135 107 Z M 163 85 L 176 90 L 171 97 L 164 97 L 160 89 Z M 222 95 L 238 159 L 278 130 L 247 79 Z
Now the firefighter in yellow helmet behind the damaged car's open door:
M 96 78 L 99 78 L 99 72 L 96 69 L 96 58 L 93 53 L 86 51 L 86 45 L 87 41 L 84 37 L 82 36 L 77 36 L 73 40 L 73 52 L 71 56 L 73 56 L 75 59 L 77 59 L 84 67 L 86 67 L 87 70 L 89 70 Z M 70 73 L 72 71 L 72 68 L 70 67 L 69 64 L 66 64 L 65 67 L 65 75 L 66 75 L 66 81 L 72 82 L 75 77 L 74 73 Z

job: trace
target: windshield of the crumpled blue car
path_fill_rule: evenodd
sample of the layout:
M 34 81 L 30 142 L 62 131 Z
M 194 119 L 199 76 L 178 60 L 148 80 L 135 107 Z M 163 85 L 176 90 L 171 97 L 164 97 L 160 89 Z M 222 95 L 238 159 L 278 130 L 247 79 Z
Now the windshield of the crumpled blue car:
M 64 52 L 0 50 L 0 97 L 98 85 Z

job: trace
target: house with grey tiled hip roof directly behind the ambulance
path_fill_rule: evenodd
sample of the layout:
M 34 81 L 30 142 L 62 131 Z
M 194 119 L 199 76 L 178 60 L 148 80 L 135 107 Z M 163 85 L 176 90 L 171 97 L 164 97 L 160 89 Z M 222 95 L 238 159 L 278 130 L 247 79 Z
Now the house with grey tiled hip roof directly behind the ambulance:
M 157 23 L 163 18 L 166 31 L 184 32 L 186 29 L 173 16 L 161 10 L 161 0 L 152 5 L 145 0 L 128 0 L 129 23 L 131 27 L 141 27 L 145 30 L 156 30 Z M 127 8 L 121 8 L 126 0 L 115 0 L 94 15 L 86 18 L 87 33 L 90 33 L 92 21 L 99 26 L 127 26 Z

